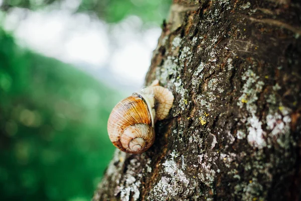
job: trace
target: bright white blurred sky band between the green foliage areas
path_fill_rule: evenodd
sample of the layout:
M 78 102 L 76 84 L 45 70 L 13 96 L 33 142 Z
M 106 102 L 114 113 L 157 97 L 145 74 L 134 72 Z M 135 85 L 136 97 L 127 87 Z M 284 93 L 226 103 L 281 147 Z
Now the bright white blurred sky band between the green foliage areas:
M 2 0 L 0 0 L 1 5 Z M 74 11 L 80 1 L 67 0 L 60 10 L 12 9 L 3 22 L 19 45 L 87 71 L 116 88 L 142 86 L 161 28 L 129 16 L 107 24 Z

